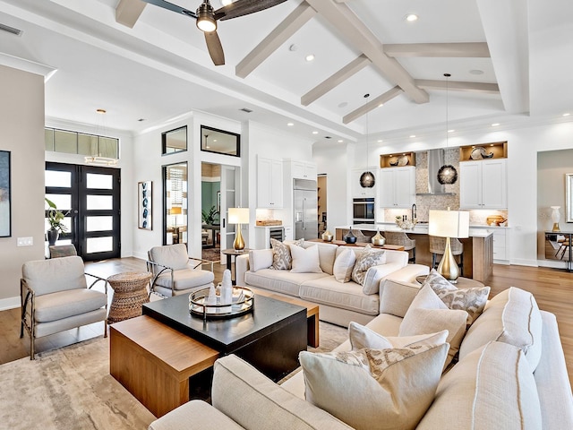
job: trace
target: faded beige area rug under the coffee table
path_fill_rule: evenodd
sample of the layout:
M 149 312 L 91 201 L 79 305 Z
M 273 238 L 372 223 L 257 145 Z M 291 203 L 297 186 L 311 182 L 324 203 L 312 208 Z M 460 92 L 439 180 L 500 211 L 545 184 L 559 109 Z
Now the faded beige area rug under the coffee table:
M 346 329 L 320 323 L 329 351 Z M 0 366 L 0 428 L 145 430 L 155 419 L 109 374 L 109 338 L 98 337 Z

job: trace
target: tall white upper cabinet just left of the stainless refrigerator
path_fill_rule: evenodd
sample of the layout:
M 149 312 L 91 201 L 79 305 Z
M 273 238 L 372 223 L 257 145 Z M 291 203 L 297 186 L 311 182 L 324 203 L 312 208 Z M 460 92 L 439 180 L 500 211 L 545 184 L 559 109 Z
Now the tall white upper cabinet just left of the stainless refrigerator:
M 283 207 L 283 162 L 280 159 L 257 159 L 257 207 Z

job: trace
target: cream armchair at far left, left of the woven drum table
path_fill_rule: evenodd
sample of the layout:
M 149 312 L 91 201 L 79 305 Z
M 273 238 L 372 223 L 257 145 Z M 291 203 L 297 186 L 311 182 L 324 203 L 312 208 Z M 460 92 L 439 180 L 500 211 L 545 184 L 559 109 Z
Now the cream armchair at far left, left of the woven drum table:
M 84 273 L 81 257 L 61 257 L 25 262 L 21 268 L 21 327 L 30 335 L 30 359 L 34 341 L 59 331 L 104 322 L 107 337 L 107 280 Z M 86 276 L 94 279 L 88 287 Z M 92 289 L 103 281 L 104 292 Z

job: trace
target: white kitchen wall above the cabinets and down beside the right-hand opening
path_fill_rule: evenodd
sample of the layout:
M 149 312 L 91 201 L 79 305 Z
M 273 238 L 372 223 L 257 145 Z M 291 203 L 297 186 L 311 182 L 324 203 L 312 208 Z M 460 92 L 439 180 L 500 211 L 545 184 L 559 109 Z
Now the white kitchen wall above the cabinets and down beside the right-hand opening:
M 540 124 L 529 119 L 522 125 L 506 129 L 458 133 L 449 137 L 449 147 L 508 142 L 508 216 L 510 262 L 536 266 L 537 261 L 537 152 L 573 148 L 573 121 L 559 120 Z M 403 139 L 370 143 L 369 159 L 380 154 L 444 148 L 445 139 L 437 135 L 424 139 Z M 364 145 L 356 148 L 355 167 L 363 165 Z M 360 155 L 362 154 L 362 155 Z M 572 166 L 573 168 L 573 166 Z M 349 202 L 349 198 L 347 199 Z M 329 204 L 331 200 L 329 198 Z

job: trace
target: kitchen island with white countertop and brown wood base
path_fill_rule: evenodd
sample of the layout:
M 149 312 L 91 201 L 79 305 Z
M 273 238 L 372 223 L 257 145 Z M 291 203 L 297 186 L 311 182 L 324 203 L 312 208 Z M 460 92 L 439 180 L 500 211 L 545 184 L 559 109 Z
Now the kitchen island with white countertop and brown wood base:
M 341 240 L 343 231 L 348 227 L 336 228 L 336 239 Z M 353 230 L 362 231 L 364 236 L 374 236 L 380 230 L 384 236 L 385 231 L 403 231 L 410 238 L 415 239 L 416 262 L 432 266 L 430 241 L 428 239 L 428 224 L 418 223 L 414 228 L 402 229 L 393 222 L 376 224 L 355 224 Z M 464 244 L 464 272 L 462 276 L 485 282 L 493 271 L 493 233 L 484 228 L 469 229 L 469 237 L 459 239 Z

